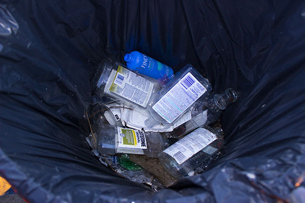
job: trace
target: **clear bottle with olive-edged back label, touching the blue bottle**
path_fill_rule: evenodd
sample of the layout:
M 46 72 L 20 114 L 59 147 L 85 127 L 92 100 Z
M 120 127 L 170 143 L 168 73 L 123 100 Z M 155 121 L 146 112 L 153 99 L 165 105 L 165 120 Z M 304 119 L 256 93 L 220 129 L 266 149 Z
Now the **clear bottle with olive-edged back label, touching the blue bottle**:
M 91 88 L 92 102 L 109 103 L 110 98 L 145 108 L 151 95 L 160 90 L 160 85 L 152 78 L 128 70 L 115 59 L 107 58 L 98 64 Z

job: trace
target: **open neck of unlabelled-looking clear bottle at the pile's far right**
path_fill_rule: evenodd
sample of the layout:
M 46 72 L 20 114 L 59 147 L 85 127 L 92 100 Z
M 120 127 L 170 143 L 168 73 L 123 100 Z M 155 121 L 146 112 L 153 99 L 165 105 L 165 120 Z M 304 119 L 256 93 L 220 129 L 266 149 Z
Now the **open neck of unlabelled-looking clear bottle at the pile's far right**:
M 237 93 L 232 88 L 227 88 L 221 94 L 215 94 L 213 102 L 215 106 L 221 110 L 225 109 L 227 105 L 237 100 Z

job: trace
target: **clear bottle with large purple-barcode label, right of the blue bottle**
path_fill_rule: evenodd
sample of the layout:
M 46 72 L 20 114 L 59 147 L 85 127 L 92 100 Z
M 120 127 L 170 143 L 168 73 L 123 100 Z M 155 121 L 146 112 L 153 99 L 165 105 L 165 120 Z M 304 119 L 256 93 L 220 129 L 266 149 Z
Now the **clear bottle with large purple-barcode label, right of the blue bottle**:
M 187 112 L 193 103 L 211 91 L 208 80 L 190 64 L 185 65 L 149 102 L 147 127 L 172 124 Z

